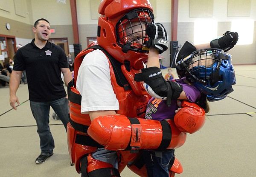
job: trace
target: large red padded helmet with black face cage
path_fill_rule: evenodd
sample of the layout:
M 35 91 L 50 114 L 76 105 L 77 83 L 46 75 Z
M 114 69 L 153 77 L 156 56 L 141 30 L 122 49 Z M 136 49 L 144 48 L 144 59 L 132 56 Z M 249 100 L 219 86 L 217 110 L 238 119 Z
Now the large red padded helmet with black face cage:
M 128 61 L 134 69 L 148 60 L 145 30 L 154 23 L 148 0 L 102 0 L 99 5 L 98 37 L 101 47 L 121 63 Z

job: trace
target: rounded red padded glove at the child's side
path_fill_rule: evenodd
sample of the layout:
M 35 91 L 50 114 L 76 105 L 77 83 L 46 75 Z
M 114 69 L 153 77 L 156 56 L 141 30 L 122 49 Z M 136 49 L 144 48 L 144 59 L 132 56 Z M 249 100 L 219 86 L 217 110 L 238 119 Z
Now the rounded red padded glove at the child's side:
M 196 103 L 182 101 L 182 107 L 174 117 L 174 123 L 182 132 L 195 133 L 204 126 L 205 112 Z

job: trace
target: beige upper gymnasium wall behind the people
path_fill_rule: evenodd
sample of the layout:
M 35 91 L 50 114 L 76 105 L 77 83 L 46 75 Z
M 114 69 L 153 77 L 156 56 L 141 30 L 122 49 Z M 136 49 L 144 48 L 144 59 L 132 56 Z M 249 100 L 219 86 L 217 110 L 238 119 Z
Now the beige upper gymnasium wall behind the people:
M 67 37 L 69 45 L 73 44 L 70 0 L 66 0 L 66 4 L 58 4 L 56 0 L 22 0 L 26 2 L 25 10 L 27 13 L 25 17 L 15 14 L 15 0 L 0 0 L 0 2 L 3 1 L 9 2 L 10 12 L 3 11 L 0 8 L 0 34 L 16 36 L 19 39 L 32 39 L 34 37 L 32 33 L 33 23 L 39 18 L 46 18 L 49 20 L 51 28 L 56 31 L 52 34 L 52 38 Z M 189 17 L 190 0 L 179 0 L 177 30 L 179 44 L 183 45 L 186 40 L 193 43 L 194 22 L 197 20 L 217 20 L 218 36 L 222 36 L 225 31 L 230 30 L 232 20 L 253 19 L 256 21 L 256 0 L 251 0 L 250 17 L 227 17 L 228 0 L 214 0 L 213 2 L 212 17 Z M 95 37 L 97 35 L 97 20 L 91 19 L 90 0 L 76 0 L 76 3 L 79 40 L 82 49 L 85 49 L 87 37 Z M 171 0 L 156 0 L 155 7 L 155 21 L 163 23 L 171 36 Z M 12 29 L 10 31 L 6 29 L 6 23 L 11 24 Z M 244 54 L 244 51 L 246 51 L 246 54 Z M 256 63 L 256 24 L 254 26 L 253 44 L 237 45 L 230 50 L 230 54 L 233 54 L 234 64 Z M 165 51 L 162 55 L 165 57 L 163 66 L 169 66 L 169 51 Z M 246 58 L 244 58 L 245 55 Z

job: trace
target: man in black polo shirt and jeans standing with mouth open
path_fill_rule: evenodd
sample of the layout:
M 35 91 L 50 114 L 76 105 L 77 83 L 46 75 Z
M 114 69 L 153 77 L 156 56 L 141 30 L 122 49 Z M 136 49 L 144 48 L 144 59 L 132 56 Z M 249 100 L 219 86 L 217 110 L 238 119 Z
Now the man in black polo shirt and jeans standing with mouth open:
M 35 39 L 15 54 L 15 64 L 9 83 L 10 105 L 15 110 L 15 104 L 20 105 L 16 92 L 22 71 L 26 70 L 30 108 L 40 137 L 41 154 L 35 163 L 41 164 L 52 156 L 54 148 L 49 128 L 50 106 L 67 130 L 69 108 L 61 72 L 66 85 L 72 80 L 72 76 L 63 49 L 48 41 L 51 35 L 49 22 L 43 18 L 35 21 L 33 32 Z

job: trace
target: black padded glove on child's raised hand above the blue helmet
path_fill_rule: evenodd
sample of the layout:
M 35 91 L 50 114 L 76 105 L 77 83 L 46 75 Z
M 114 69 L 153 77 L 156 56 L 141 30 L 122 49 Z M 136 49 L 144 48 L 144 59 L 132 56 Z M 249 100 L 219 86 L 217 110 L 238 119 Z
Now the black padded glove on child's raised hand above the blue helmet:
M 223 49 L 225 52 L 232 49 L 238 41 L 238 33 L 226 31 L 224 36 L 219 39 L 212 40 L 210 46 L 212 48 Z

